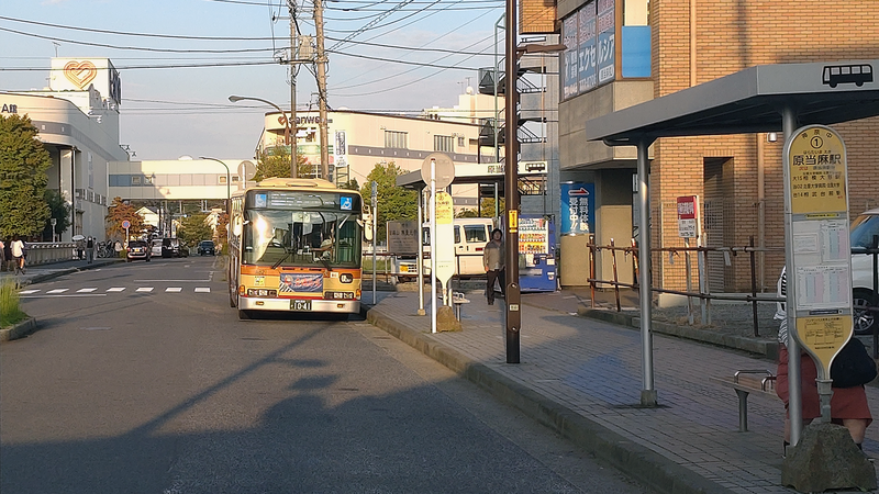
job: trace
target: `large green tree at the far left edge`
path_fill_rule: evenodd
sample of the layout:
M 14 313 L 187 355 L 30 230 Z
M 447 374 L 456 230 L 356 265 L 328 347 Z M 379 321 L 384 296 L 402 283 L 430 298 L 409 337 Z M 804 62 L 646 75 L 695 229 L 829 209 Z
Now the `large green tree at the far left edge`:
M 52 158 L 31 119 L 0 116 L 0 236 L 40 235 L 49 218 L 45 200 Z

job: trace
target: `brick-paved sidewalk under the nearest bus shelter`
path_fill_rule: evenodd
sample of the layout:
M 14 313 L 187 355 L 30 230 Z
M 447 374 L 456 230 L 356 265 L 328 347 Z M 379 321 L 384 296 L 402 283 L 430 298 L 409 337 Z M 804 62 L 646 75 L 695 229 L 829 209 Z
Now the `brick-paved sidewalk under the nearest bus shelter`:
M 639 332 L 570 315 L 570 296 L 523 295 L 519 364 L 505 363 L 503 305 L 488 306 L 480 293 L 468 295 L 460 333 L 432 335 L 430 316 L 414 315 L 415 293 L 382 293 L 367 317 L 659 492 L 793 492 L 780 485 L 781 401 L 752 394 L 748 431 L 739 433 L 735 392 L 709 381 L 739 369 L 775 373 L 775 360 L 656 334 L 659 406 L 643 408 Z M 879 411 L 879 389 L 867 395 Z M 864 449 L 879 458 L 876 425 Z

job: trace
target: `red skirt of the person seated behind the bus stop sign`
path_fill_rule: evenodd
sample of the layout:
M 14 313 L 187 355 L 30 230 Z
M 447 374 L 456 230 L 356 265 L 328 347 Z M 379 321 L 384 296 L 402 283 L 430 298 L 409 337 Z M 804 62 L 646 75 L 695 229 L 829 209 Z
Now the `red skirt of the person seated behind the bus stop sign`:
M 821 416 L 821 401 L 817 396 L 817 369 L 812 357 L 808 353 L 800 356 L 800 373 L 802 379 L 802 402 L 803 418 L 817 418 Z M 788 388 L 788 349 L 779 345 L 778 352 L 778 381 L 776 382 L 776 393 L 785 402 L 785 409 L 788 408 L 790 393 Z M 834 388 L 831 397 L 831 417 L 842 418 L 864 418 L 867 425 L 872 422 L 870 406 L 867 404 L 867 393 L 864 386 L 855 388 Z

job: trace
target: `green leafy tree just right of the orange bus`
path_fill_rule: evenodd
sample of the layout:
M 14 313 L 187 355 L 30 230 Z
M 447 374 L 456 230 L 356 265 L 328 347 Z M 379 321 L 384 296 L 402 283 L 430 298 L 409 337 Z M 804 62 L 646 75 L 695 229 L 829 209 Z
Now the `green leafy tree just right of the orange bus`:
M 398 167 L 393 161 L 382 165 L 378 164 L 360 188 L 360 194 L 367 204 L 371 203 L 372 181 L 377 183 L 378 192 L 378 232 L 376 239 L 383 242 L 387 237 L 386 222 L 397 220 L 415 220 L 419 211 L 418 193 L 413 190 L 405 190 L 397 187 L 397 177 L 407 173 L 407 170 Z

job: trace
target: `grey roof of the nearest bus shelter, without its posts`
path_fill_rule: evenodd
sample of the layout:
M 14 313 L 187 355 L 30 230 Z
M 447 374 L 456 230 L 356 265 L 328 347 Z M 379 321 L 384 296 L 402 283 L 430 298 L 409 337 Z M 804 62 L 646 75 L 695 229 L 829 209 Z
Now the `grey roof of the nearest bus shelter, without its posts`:
M 748 69 L 586 122 L 609 146 L 657 137 L 781 132 L 781 109 L 799 125 L 879 115 L 879 59 L 775 64 Z

